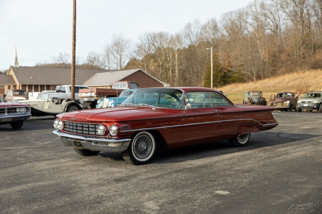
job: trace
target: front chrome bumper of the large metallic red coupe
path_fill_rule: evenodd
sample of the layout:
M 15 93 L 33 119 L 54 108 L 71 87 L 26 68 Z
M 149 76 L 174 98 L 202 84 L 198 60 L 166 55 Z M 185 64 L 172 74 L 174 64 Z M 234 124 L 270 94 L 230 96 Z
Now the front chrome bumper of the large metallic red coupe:
M 107 137 L 96 137 L 96 136 L 83 136 L 77 134 L 69 134 L 54 130 L 52 133 L 59 136 L 61 142 L 66 146 L 73 146 L 74 148 L 89 149 L 92 151 L 107 151 L 107 152 L 122 152 L 127 149 L 131 139 L 114 139 Z M 82 147 L 76 146 L 75 142 Z

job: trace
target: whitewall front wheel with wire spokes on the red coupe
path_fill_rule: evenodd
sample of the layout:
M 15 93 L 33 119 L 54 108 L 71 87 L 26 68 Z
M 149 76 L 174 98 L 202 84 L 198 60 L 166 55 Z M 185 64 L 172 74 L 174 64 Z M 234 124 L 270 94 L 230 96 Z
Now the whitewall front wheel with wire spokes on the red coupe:
M 147 131 L 137 133 L 129 147 L 122 152 L 123 159 L 134 165 L 150 162 L 156 152 L 156 142 L 153 135 Z

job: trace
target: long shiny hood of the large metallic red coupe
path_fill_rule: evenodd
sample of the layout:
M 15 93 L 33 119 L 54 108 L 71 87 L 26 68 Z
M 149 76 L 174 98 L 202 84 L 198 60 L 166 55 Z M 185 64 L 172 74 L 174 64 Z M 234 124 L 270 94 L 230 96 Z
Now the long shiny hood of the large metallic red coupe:
M 169 110 L 171 112 L 180 110 Z M 89 122 L 107 122 L 107 121 L 127 121 L 137 119 L 164 118 L 167 115 L 167 109 L 151 107 L 115 107 L 115 108 L 97 108 L 89 110 L 81 110 L 74 112 L 66 112 L 58 114 L 58 118 L 71 121 L 89 121 Z

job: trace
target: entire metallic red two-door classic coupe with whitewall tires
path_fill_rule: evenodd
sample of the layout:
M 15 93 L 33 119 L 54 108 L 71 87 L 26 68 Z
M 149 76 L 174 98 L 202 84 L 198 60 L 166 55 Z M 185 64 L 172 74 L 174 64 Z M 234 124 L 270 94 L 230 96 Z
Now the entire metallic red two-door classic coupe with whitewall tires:
M 272 129 L 274 107 L 234 105 L 209 88 L 138 89 L 120 106 L 62 113 L 62 142 L 78 154 L 122 152 L 126 162 L 151 161 L 157 146 L 178 148 L 228 139 L 245 146 L 250 133 Z

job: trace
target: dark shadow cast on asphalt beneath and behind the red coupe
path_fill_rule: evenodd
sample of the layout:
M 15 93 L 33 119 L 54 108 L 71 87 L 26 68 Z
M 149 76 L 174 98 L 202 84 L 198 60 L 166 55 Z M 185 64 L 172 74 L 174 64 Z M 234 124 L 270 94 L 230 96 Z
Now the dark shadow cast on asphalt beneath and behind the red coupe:
M 245 147 L 233 147 L 229 144 L 228 140 L 221 140 L 213 143 L 183 147 L 178 149 L 160 150 L 156 154 L 153 162 L 169 163 L 202 159 L 240 151 L 292 143 L 318 136 L 321 135 L 265 131 L 252 134 L 248 145 Z

